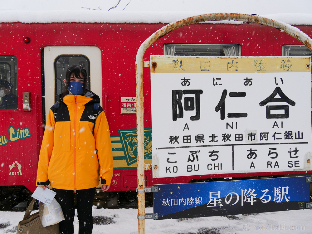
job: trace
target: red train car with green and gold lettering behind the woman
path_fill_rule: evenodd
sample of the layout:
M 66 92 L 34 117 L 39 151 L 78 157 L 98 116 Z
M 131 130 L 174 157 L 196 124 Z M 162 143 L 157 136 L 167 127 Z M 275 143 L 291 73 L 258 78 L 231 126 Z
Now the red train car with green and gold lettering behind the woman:
M 0 23 L 0 80 L 11 84 L 5 90 L 17 100 L 16 105 L 9 108 L 1 109 L 0 106 L 1 188 L 25 186 L 32 192 L 36 188 L 46 113 L 64 91 L 62 80 L 67 68 L 78 63 L 88 72 L 91 90 L 101 97 L 110 125 L 114 159 L 110 191 L 135 190 L 135 56 L 141 43 L 164 25 L 128 22 Z M 311 25 L 296 27 L 311 36 Z M 311 55 L 311 51 L 293 37 L 268 26 L 201 23 L 179 28 L 160 38 L 145 52 L 144 61 L 149 61 L 150 55 L 163 54 L 295 56 Z M 149 68 L 144 68 L 145 163 L 152 163 L 150 99 Z M 296 173 L 312 172 L 292 172 Z M 286 172 L 273 174 L 284 175 Z M 247 176 L 268 175 L 272 173 Z M 145 186 L 188 183 L 192 179 L 212 177 L 224 175 L 153 179 L 152 171 L 145 171 Z

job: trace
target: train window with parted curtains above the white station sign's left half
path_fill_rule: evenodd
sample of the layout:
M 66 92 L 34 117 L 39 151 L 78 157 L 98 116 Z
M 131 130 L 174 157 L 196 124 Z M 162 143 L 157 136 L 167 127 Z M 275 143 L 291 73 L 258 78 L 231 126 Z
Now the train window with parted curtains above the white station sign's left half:
M 241 56 L 241 46 L 217 44 L 164 44 L 163 54 L 180 56 Z

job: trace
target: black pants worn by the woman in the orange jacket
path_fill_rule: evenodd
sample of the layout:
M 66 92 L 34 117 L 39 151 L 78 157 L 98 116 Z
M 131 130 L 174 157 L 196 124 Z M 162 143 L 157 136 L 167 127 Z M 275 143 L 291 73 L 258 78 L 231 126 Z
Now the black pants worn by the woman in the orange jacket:
M 74 191 L 53 188 L 56 192 L 55 199 L 61 205 L 65 220 L 61 221 L 60 233 L 74 233 Z M 95 195 L 95 188 L 77 190 L 77 213 L 79 221 L 79 234 L 91 234 L 93 228 L 92 204 Z

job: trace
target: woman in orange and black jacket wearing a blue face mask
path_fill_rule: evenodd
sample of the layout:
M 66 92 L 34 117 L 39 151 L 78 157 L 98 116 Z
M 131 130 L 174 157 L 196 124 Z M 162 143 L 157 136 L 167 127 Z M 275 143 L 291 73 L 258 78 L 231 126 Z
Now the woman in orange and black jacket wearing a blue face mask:
M 37 186 L 50 183 L 65 220 L 60 233 L 74 233 L 74 194 L 77 196 L 79 234 L 91 234 L 95 187 L 107 191 L 113 174 L 112 146 L 100 98 L 85 87 L 85 69 L 73 65 L 66 71 L 66 91 L 49 110 L 42 140 Z

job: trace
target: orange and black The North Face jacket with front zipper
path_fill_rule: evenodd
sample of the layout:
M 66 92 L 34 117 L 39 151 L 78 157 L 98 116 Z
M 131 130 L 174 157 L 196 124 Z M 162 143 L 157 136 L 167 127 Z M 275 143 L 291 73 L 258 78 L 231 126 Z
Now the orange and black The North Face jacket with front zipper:
M 90 97 L 92 96 L 92 97 Z M 113 156 L 110 130 L 102 107 L 94 125 L 93 104 L 100 99 L 92 92 L 67 95 L 60 101 L 56 121 L 49 110 L 43 135 L 37 186 L 58 189 L 87 189 L 102 183 L 110 185 Z

